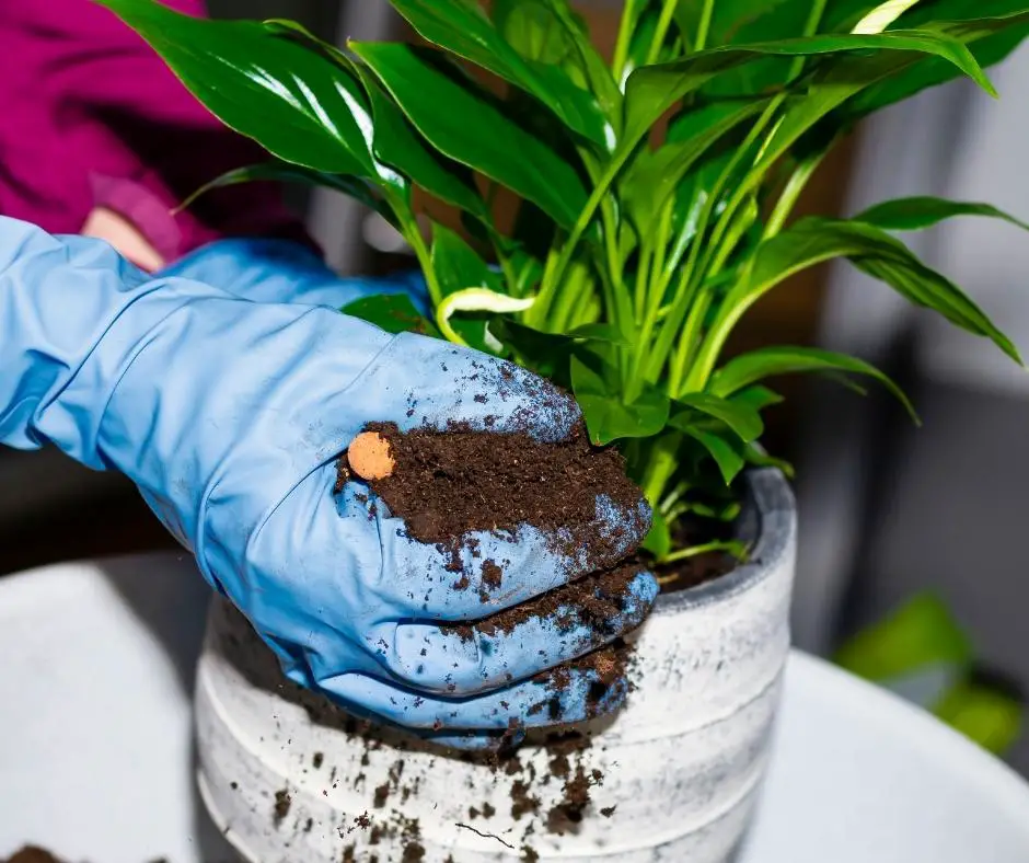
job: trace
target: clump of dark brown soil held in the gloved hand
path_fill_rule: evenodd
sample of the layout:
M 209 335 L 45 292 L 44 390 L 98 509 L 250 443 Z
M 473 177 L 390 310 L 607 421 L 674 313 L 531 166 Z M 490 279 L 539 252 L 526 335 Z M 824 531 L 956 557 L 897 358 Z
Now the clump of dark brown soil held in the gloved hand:
M 530 523 L 578 533 L 566 538 L 569 551 L 586 546 L 589 568 L 611 566 L 624 554 L 618 538 L 601 537 L 589 526 L 597 518 L 598 495 L 636 511 L 640 492 L 625 475 L 622 456 L 591 447 L 585 429 L 560 444 L 462 427 L 401 434 L 392 423 L 372 423 L 365 430 L 385 437 L 396 462 L 393 473 L 372 481 L 371 488 L 420 542 L 455 549 L 469 531 L 510 531 Z M 339 459 L 338 487 L 347 479 L 345 462 Z M 486 586 L 499 585 L 502 566 L 489 563 Z

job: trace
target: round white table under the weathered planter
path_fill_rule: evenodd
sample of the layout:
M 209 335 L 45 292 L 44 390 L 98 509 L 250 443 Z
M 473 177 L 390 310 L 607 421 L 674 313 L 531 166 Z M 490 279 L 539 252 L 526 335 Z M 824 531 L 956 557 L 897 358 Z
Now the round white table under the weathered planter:
M 186 555 L 0 578 L 0 859 L 231 860 L 193 782 L 207 598 Z M 740 863 L 1029 861 L 1029 784 L 894 697 L 794 653 L 776 734 Z

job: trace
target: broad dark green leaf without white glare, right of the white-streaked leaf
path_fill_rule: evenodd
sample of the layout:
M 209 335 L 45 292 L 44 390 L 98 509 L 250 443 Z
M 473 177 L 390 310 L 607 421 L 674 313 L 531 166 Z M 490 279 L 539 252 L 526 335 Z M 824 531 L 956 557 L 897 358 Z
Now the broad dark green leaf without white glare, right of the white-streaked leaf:
M 578 174 L 504 116 L 485 93 L 408 45 L 351 47 L 437 150 L 534 202 L 559 225 L 575 223 L 587 197 Z

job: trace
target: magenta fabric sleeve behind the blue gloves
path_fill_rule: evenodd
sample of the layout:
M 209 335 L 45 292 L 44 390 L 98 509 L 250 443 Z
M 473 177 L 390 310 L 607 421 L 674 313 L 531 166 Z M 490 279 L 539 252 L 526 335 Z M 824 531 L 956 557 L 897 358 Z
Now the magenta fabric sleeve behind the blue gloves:
M 203 0 L 162 0 L 204 15 Z M 209 193 L 224 171 L 268 158 L 223 126 L 161 58 L 91 0 L 0 0 L 0 214 L 78 233 L 99 205 L 132 221 L 169 262 L 223 237 L 313 245 L 275 184 Z

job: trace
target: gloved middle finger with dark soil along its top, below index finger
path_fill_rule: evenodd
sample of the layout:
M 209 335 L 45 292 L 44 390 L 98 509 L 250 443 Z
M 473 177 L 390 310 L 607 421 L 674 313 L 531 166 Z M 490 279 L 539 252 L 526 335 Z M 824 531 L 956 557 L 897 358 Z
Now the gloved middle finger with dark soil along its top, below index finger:
M 473 623 L 383 624 L 377 642 L 389 648 L 379 655 L 419 691 L 475 694 L 609 644 L 643 622 L 658 590 L 654 575 L 635 566 L 598 573 Z

